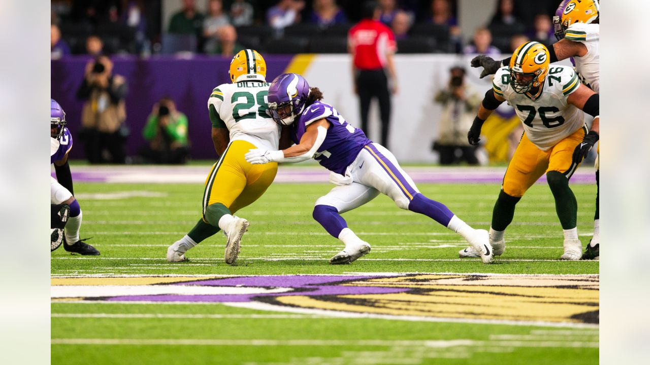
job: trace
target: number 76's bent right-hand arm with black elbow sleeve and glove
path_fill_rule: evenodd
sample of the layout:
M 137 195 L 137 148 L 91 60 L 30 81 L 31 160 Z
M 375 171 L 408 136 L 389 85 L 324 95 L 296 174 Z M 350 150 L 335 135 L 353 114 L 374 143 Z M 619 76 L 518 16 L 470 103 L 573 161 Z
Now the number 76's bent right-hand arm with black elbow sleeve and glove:
M 582 143 L 578 144 L 573 150 L 573 162 L 579 164 L 585 157 L 587 157 L 589 151 L 593 148 L 593 145 L 595 145 L 599 140 L 601 121 L 599 95 L 587 86 L 580 84 L 578 89 L 567 97 L 567 103 L 575 105 L 575 107 L 579 108 L 583 112 L 593 116 L 591 131 L 584 136 Z

